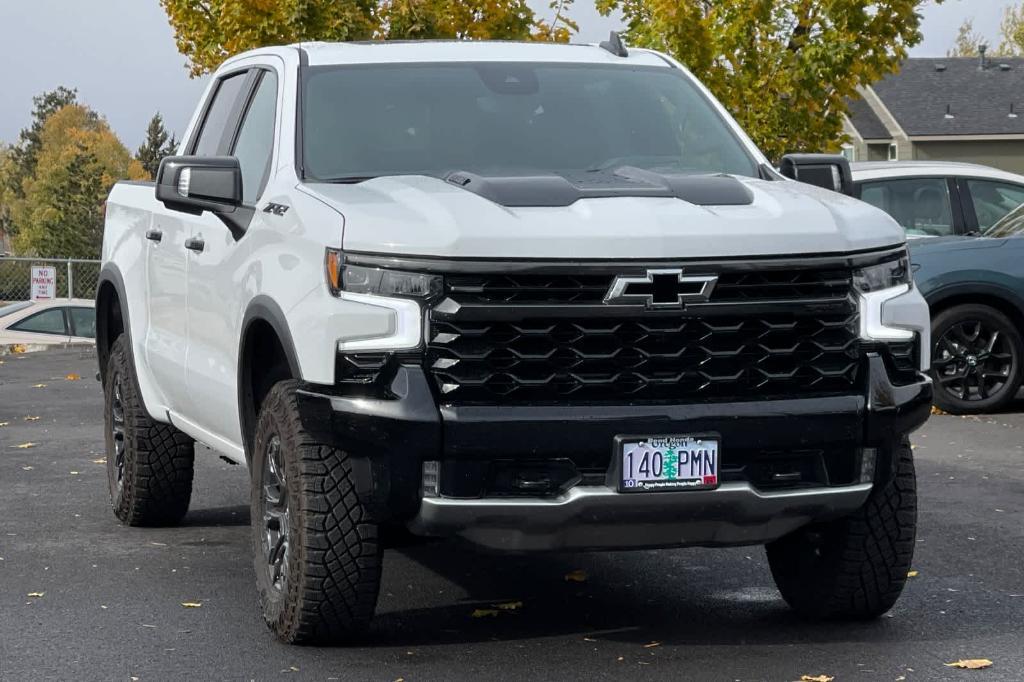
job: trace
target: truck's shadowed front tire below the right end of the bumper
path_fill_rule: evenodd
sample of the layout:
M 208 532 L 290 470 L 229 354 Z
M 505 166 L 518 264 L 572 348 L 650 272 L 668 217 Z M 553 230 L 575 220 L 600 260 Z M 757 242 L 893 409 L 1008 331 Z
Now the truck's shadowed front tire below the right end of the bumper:
M 857 512 L 767 546 L 775 585 L 802 615 L 878 617 L 902 593 L 916 536 L 916 479 L 905 440 L 893 457 L 895 475 L 877 483 Z

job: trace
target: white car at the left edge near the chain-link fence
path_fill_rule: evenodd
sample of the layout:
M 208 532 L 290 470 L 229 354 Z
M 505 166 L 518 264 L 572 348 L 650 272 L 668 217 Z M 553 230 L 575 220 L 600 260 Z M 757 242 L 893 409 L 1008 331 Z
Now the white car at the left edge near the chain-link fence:
M 0 345 L 83 344 L 96 338 L 95 303 L 89 299 L 19 301 L 0 306 Z

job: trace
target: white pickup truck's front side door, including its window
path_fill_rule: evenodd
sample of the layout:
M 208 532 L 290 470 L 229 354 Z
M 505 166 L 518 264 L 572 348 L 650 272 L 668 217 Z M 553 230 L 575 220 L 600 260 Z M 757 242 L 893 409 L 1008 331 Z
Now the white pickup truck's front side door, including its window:
M 242 169 L 243 204 L 254 210 L 249 232 L 264 214 L 256 209 L 270 174 L 278 113 L 276 74 L 254 68 L 242 98 L 237 130 L 224 138 L 221 156 L 233 156 Z M 194 220 L 191 240 L 202 250 L 189 254 L 188 361 L 186 384 L 190 418 L 204 430 L 241 445 L 238 410 L 238 352 L 246 300 L 246 264 L 252 240 L 236 238 L 214 218 Z

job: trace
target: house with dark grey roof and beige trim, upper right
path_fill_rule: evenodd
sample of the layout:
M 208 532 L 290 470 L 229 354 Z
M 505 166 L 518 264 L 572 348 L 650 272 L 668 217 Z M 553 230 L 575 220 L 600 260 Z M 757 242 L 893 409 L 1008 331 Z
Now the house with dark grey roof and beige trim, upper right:
M 968 161 L 1024 174 L 1024 58 L 909 58 L 861 88 L 851 161 Z

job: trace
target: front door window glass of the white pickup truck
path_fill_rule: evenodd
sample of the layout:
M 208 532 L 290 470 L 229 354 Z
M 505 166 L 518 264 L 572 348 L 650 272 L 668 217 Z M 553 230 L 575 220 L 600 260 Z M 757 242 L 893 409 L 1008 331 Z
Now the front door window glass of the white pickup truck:
M 239 130 L 233 155 L 242 167 L 242 196 L 253 204 L 263 191 L 273 153 L 274 119 L 278 113 L 278 77 L 264 72 Z

